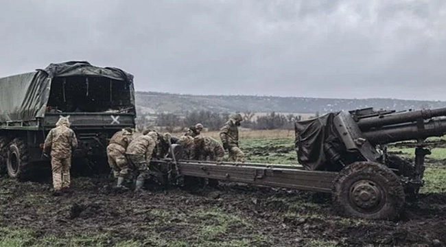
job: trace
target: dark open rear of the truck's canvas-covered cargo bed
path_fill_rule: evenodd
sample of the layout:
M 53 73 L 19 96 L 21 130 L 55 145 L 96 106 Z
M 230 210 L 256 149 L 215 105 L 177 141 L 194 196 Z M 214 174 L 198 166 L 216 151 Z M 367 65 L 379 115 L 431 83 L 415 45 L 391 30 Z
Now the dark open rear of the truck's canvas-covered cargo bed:
M 127 82 L 104 77 L 54 78 L 47 112 L 126 112 L 132 108 Z

